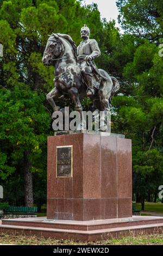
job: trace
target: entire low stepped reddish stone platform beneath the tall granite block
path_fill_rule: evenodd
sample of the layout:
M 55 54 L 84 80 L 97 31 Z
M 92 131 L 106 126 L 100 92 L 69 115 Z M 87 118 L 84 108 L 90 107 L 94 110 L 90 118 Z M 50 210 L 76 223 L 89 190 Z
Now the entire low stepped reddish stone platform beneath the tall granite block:
M 163 231 L 163 217 L 133 216 L 99 221 L 53 222 L 45 217 L 2 220 L 0 233 L 36 235 L 73 241 L 99 241 L 136 234 L 158 234 Z

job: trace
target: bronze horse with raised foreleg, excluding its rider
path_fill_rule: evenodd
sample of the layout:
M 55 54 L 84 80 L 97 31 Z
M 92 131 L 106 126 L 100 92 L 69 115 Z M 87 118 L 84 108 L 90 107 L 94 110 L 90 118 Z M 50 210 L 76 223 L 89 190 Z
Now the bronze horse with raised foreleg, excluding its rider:
M 54 100 L 68 95 L 73 100 L 76 111 L 82 112 L 80 98 L 86 97 L 87 86 L 80 72 L 80 65 L 77 63 L 77 47 L 71 36 L 59 33 L 49 36 L 42 62 L 55 67 L 54 89 L 47 94 L 47 100 L 53 111 L 59 110 Z M 106 71 L 99 69 L 99 72 L 106 79 L 99 79 L 95 95 L 92 96 L 93 105 L 98 111 L 110 111 L 111 98 L 120 89 L 120 84 Z M 105 124 L 101 130 L 106 131 Z

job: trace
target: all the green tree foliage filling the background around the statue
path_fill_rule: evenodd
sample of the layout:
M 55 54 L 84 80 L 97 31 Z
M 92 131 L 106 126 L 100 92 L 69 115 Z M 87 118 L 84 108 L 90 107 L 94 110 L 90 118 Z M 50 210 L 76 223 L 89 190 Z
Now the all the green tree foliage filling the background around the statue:
M 23 204 L 28 194 L 25 174 L 33 175 L 34 203 L 46 197 L 47 136 L 52 135 L 52 109 L 46 94 L 53 88 L 53 66 L 41 59 L 48 34 L 70 34 L 78 45 L 86 23 L 98 41 L 99 68 L 120 81 L 112 101 L 112 132 L 133 141 L 134 193 L 158 193 L 162 174 L 163 63 L 162 2 L 117 0 L 121 26 L 101 20 L 97 4 L 76 0 L 0 1 L 0 180 L 10 204 Z M 90 100 L 83 100 L 84 109 Z M 57 105 L 73 109 L 72 101 Z M 31 180 L 32 182 L 32 180 Z M 30 198 L 33 202 L 32 197 Z

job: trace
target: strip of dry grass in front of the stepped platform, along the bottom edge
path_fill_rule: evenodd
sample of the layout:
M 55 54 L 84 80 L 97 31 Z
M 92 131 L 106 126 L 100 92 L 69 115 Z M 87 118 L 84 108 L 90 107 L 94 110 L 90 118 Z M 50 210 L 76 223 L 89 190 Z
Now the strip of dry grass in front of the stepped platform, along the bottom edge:
M 163 245 L 163 235 L 134 235 L 120 239 L 109 239 L 98 242 L 73 242 L 70 240 L 55 240 L 45 237 L 0 234 L 0 243 L 14 245 Z

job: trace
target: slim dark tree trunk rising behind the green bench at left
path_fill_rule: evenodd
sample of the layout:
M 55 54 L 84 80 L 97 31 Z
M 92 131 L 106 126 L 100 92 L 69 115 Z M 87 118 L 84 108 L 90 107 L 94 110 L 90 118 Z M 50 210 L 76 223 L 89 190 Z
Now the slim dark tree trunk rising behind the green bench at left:
M 26 151 L 24 153 L 24 199 L 26 206 L 33 206 L 33 177 L 29 168 L 29 153 Z

